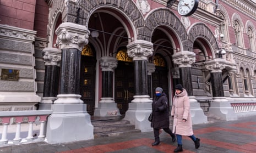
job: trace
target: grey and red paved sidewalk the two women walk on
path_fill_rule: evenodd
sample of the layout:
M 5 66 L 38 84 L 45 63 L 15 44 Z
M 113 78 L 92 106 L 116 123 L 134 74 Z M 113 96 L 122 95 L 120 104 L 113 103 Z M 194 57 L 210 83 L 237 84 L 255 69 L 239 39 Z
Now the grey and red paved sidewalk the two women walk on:
M 256 152 L 256 116 L 240 118 L 237 121 L 219 121 L 193 126 L 194 134 L 199 137 L 200 148 L 195 149 L 188 137 L 183 138 L 183 152 Z M 0 148 L 0 152 L 173 152 L 177 142 L 163 132 L 161 145 L 151 146 L 154 142 L 153 132 L 136 135 L 122 135 L 96 138 L 94 140 L 76 141 L 66 144 L 47 144 L 45 142 L 13 145 Z

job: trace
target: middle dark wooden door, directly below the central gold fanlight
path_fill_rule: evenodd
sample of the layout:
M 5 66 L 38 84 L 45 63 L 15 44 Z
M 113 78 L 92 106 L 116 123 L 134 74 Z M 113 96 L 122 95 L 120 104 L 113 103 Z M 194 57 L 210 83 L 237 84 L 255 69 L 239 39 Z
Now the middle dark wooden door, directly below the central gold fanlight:
M 128 104 L 134 96 L 133 63 L 118 61 L 115 69 L 115 101 L 120 114 L 126 114 Z

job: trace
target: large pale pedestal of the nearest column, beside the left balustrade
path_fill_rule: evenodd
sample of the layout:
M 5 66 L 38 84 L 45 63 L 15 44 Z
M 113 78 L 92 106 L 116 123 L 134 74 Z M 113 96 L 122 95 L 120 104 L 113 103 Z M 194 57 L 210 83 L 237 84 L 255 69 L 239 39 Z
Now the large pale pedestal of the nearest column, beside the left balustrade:
M 94 139 L 86 104 L 54 104 L 48 117 L 46 139 L 50 144 Z

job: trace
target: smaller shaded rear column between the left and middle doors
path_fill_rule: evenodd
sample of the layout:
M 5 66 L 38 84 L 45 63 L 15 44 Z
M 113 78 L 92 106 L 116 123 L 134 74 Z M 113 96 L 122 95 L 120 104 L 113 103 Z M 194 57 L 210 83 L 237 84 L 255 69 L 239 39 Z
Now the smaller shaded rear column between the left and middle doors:
M 117 59 L 110 56 L 102 57 L 100 66 L 102 71 L 102 97 L 98 107 L 94 110 L 94 116 L 114 118 L 121 116 L 113 98 L 113 72 L 117 67 Z

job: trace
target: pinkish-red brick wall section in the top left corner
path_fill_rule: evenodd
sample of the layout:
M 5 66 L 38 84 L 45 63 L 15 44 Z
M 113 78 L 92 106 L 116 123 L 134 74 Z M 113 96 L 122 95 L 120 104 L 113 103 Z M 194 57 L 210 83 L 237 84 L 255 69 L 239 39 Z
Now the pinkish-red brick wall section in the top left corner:
M 34 30 L 35 0 L 1 0 L 0 24 Z

